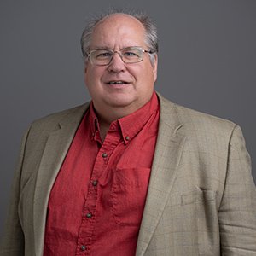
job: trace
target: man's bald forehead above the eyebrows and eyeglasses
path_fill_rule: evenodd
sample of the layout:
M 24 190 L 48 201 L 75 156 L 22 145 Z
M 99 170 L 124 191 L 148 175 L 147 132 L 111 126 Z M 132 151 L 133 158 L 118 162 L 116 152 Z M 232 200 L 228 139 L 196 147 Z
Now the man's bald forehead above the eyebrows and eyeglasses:
M 145 29 L 143 24 L 131 15 L 115 14 L 96 24 L 90 46 L 125 48 L 144 46 Z

